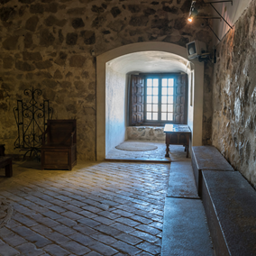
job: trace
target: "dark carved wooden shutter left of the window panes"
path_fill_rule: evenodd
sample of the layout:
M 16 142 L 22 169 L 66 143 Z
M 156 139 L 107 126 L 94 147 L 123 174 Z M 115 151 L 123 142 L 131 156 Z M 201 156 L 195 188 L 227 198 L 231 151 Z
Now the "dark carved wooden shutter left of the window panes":
M 130 88 L 130 124 L 139 125 L 143 123 L 144 78 L 132 75 Z

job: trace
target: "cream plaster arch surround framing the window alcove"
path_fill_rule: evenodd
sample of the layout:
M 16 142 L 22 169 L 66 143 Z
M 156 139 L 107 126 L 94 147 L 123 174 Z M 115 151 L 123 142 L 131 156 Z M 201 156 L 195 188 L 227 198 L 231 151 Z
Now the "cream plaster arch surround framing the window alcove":
M 114 50 L 106 51 L 96 57 L 96 160 L 105 159 L 105 93 L 106 93 L 106 64 L 121 56 L 142 52 L 142 51 L 160 51 L 172 53 L 182 59 L 187 59 L 187 49 L 168 42 L 138 42 L 124 45 Z M 188 63 L 188 59 L 187 59 Z M 192 93 L 192 104 L 188 104 L 187 124 L 189 125 L 192 136 L 191 145 L 200 146 L 202 144 L 203 129 L 203 88 L 204 88 L 204 63 L 197 60 L 192 61 L 192 69 L 187 69 L 188 74 L 188 91 Z M 191 90 L 191 72 L 193 73 L 192 90 Z M 193 85 L 194 84 L 194 85 Z

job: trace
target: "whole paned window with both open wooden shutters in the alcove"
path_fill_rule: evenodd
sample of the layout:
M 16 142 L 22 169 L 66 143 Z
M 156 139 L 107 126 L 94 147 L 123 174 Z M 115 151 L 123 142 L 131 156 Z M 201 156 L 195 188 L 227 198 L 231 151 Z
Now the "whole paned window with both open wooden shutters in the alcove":
M 132 125 L 187 122 L 186 74 L 133 75 L 130 96 Z

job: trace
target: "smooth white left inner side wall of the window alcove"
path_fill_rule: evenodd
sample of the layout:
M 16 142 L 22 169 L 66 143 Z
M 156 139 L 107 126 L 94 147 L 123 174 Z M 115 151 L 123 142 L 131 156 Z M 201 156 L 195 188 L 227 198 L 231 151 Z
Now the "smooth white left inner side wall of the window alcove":
M 105 154 L 125 141 L 126 75 L 105 65 Z

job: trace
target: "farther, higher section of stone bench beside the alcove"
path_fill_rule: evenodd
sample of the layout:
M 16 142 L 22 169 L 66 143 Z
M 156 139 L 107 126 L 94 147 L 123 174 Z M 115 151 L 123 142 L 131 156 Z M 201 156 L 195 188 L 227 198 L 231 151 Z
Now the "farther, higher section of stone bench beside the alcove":
M 192 147 L 191 161 L 199 197 L 202 195 L 202 171 L 206 169 L 233 171 L 233 167 L 213 146 Z

